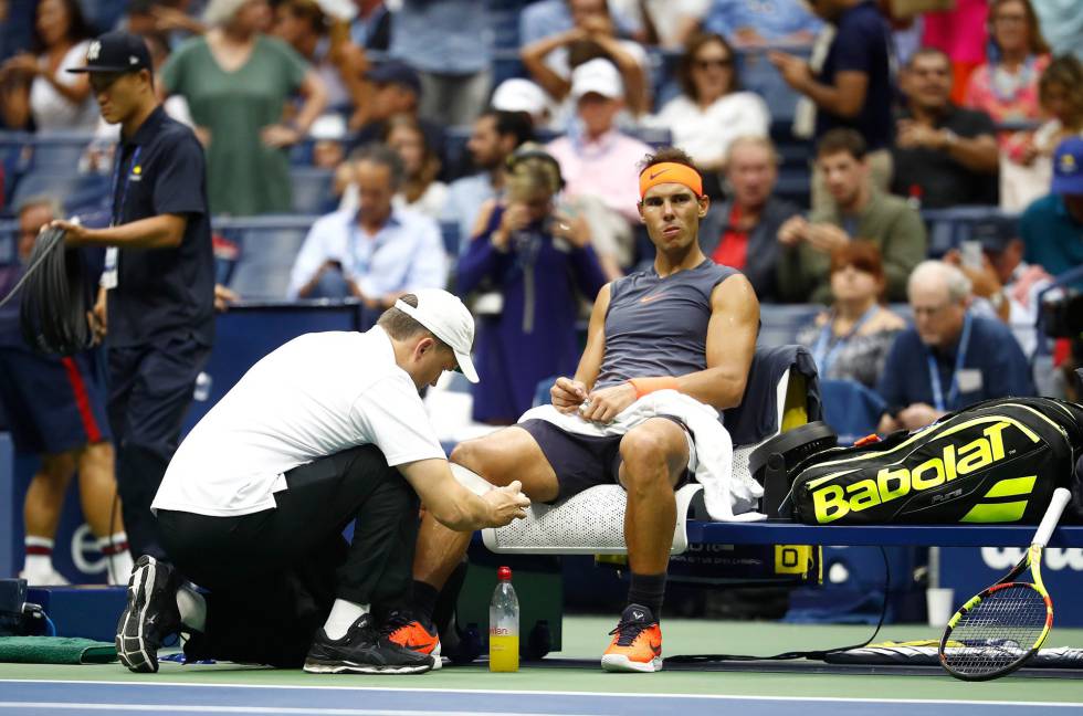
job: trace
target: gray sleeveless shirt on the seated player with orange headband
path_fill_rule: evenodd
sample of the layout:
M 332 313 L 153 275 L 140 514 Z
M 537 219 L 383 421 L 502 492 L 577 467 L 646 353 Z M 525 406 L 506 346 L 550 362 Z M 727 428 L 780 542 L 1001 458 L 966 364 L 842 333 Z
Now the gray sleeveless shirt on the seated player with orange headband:
M 664 278 L 652 266 L 614 281 L 606 313 L 606 355 L 593 389 L 629 378 L 705 370 L 711 293 L 735 273 L 705 259 Z

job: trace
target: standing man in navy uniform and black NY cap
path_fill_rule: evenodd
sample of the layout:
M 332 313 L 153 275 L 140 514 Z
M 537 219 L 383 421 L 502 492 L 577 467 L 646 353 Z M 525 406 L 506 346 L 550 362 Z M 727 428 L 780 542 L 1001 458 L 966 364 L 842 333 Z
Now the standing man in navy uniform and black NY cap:
M 91 323 L 108 349 L 108 413 L 124 524 L 134 557 L 164 558 L 150 502 L 214 339 L 203 149 L 158 104 L 150 54 L 138 35 L 101 35 L 87 48 L 86 65 L 70 72 L 90 73 L 102 117 L 120 125 L 112 223 L 53 225 L 67 232 L 70 246 L 107 248 Z

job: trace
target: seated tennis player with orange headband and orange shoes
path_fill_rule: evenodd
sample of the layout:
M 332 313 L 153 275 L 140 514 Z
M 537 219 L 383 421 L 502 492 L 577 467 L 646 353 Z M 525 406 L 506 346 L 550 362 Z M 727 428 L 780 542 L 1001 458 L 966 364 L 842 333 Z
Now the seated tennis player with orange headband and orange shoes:
M 658 250 L 653 268 L 607 284 L 598 294 L 587 346 L 575 378 L 550 394 L 562 413 L 610 423 L 640 397 L 674 389 L 722 410 L 745 390 L 756 346 L 759 303 L 751 284 L 700 250 L 698 225 L 709 203 L 700 173 L 683 151 L 646 157 L 639 211 Z M 522 481 L 545 503 L 598 484 L 628 492 L 624 539 L 631 568 L 628 604 L 602 656 L 607 671 L 662 667 L 659 615 L 676 522 L 674 489 L 688 480 L 694 443 L 684 424 L 654 417 L 623 435 L 587 436 L 545 420 L 527 420 L 461 443 L 452 462 L 494 485 Z M 438 590 L 465 554 L 470 535 L 422 520 L 413 603 L 390 638 L 439 646 L 432 625 Z

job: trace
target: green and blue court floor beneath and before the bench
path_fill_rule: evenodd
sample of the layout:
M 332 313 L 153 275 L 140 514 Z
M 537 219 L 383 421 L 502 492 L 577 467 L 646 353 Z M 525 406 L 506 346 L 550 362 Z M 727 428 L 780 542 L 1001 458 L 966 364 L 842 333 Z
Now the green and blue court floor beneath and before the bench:
M 964 683 L 938 667 L 845 670 L 822 662 L 756 662 L 724 668 L 666 664 L 658 674 L 607 674 L 598 656 L 608 617 L 564 618 L 564 647 L 511 674 L 484 663 L 412 676 L 313 675 L 239 664 L 162 662 L 157 674 L 117 663 L 0 664 L 0 716 L 9 714 L 466 714 L 637 716 L 798 714 L 800 716 L 1083 716 L 1080 672 L 1028 670 Z M 666 654 L 740 650 L 774 654 L 860 643 L 866 625 L 796 625 L 672 619 Z M 924 625 L 892 624 L 881 640 L 928 639 Z M 1083 645 L 1083 630 L 1054 629 L 1050 646 Z

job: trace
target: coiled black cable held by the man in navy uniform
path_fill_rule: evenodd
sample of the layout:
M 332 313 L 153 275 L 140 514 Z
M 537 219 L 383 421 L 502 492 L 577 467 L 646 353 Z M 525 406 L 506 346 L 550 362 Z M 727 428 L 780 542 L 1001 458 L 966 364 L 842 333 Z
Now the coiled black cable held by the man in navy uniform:
M 62 229 L 48 228 L 38 234 L 27 273 L 11 293 L 23 284 L 19 325 L 30 348 L 72 356 L 93 345 L 87 310 L 93 306 L 94 286 L 82 253 L 64 246 Z

